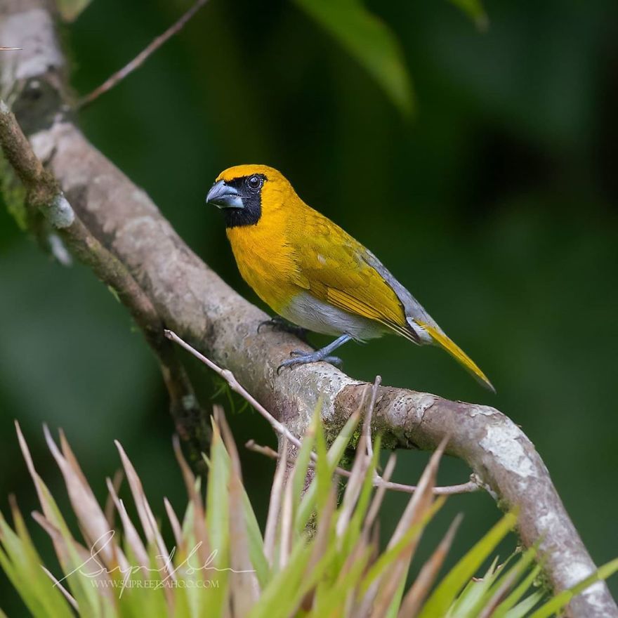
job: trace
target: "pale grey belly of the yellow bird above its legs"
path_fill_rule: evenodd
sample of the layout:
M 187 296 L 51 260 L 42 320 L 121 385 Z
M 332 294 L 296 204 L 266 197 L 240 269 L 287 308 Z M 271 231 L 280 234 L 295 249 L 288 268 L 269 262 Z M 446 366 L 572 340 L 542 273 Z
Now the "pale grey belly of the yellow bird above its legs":
M 279 313 L 298 326 L 324 335 L 346 333 L 362 341 L 382 336 L 385 332 L 378 322 L 338 309 L 305 291 L 296 294 Z

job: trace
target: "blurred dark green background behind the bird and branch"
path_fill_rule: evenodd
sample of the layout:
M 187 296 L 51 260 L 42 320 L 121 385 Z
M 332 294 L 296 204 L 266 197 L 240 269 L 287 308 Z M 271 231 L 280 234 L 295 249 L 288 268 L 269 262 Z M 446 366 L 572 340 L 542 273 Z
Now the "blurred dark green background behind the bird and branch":
M 188 6 L 94 0 L 65 29 L 77 92 L 100 84 Z M 220 213 L 204 206 L 204 195 L 232 164 L 281 169 L 308 204 L 409 287 L 498 395 L 444 353 L 398 338 L 346 346 L 346 372 L 501 409 L 539 449 L 596 562 L 615 558 L 618 5 L 489 1 L 486 34 L 447 2 L 369 7 L 402 43 L 416 93 L 410 120 L 293 4 L 211 0 L 142 69 L 82 112 L 81 126 L 252 301 Z M 101 499 L 105 475 L 119 466 L 117 438 L 155 511 L 163 515 L 164 495 L 180 511 L 166 393 L 128 315 L 86 268 L 62 268 L 41 254 L 5 209 L 0 240 L 2 510 L 9 492 L 25 513 L 37 506 L 13 430 L 18 419 L 63 499 L 44 422 L 64 428 Z M 192 369 L 208 405 L 217 385 Z M 249 410 L 231 420 L 239 444 L 274 442 Z M 263 515 L 272 462 L 242 456 Z M 397 480 L 414 482 L 426 460 L 400 454 Z M 468 473 L 445 461 L 440 482 L 463 482 Z M 388 497 L 385 530 L 403 500 Z M 486 494 L 453 497 L 424 552 L 458 511 L 466 518 L 454 555 L 499 517 Z M 48 555 L 51 544 L 31 528 Z

